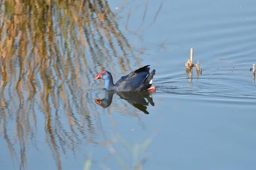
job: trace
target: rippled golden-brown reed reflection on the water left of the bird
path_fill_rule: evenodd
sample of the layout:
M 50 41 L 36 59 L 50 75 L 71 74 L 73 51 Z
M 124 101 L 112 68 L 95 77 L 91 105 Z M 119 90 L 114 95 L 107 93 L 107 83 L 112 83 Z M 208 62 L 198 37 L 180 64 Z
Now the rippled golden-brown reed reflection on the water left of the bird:
M 93 76 L 102 69 L 132 70 L 131 61 L 139 61 L 132 52 L 104 0 L 0 2 L 0 136 L 20 169 L 27 167 L 29 140 L 38 148 L 39 117 L 58 169 L 61 154 L 76 152 L 83 138 L 95 142 L 99 116 L 87 100 L 93 99 Z

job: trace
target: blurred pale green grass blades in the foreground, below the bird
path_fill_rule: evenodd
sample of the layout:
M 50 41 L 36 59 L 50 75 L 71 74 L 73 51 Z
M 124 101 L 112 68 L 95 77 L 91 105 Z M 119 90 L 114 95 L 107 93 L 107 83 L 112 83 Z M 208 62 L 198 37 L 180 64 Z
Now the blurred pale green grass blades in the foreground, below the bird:
M 133 166 L 134 170 L 142 170 L 143 164 L 145 164 L 148 161 L 147 156 L 144 156 L 142 159 L 139 160 L 139 155 L 141 153 L 143 153 L 148 148 L 148 146 L 152 142 L 152 140 L 153 140 L 153 137 L 149 137 L 148 139 L 146 139 L 143 142 L 143 144 L 135 144 L 134 146 L 131 146 L 124 139 L 121 138 L 122 144 L 131 153 L 131 156 L 133 158 L 132 166 Z M 128 167 L 130 167 L 130 165 L 126 164 L 124 159 L 122 159 L 122 157 L 116 153 L 116 150 L 113 148 L 111 143 L 108 143 L 107 147 L 108 147 L 108 150 L 111 153 L 111 155 L 114 156 L 114 158 L 122 166 L 122 168 L 124 170 L 129 170 Z M 87 159 L 84 163 L 84 170 L 90 170 L 91 164 L 92 164 L 92 160 Z M 111 169 L 113 169 L 113 168 L 111 168 Z

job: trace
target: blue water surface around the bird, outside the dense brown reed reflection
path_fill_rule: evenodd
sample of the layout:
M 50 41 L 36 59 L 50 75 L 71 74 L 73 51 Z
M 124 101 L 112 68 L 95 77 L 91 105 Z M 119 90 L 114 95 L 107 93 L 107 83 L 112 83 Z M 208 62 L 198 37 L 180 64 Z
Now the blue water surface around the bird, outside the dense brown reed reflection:
M 58 94 L 56 84 L 49 105 L 42 102 L 42 86 L 20 106 L 12 90 L 17 79 L 11 79 L 4 91 L 8 105 L 0 112 L 0 166 L 83 170 L 90 160 L 92 170 L 119 170 L 136 169 L 143 159 L 145 170 L 256 168 L 256 84 L 250 72 L 256 62 L 256 1 L 128 0 L 120 7 L 122 3 L 108 1 L 131 45 L 125 56 L 121 42 L 113 43 L 116 54 L 109 46 L 108 52 L 96 54 L 85 48 L 87 66 L 80 63 L 76 79 L 70 71 L 64 81 L 55 80 L 68 92 Z M 199 76 L 195 68 L 192 77 L 185 74 L 190 48 L 202 69 Z M 96 74 L 108 69 L 116 82 L 143 65 L 157 71 L 148 114 L 117 94 L 107 108 L 96 104 L 94 99 L 105 98 L 104 82 L 93 80 Z

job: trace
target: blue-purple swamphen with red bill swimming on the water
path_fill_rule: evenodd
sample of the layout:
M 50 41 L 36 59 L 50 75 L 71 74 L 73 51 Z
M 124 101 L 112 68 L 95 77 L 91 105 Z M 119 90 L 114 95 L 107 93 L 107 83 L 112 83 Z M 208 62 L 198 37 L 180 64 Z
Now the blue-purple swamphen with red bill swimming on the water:
M 135 71 L 132 71 L 130 74 L 121 77 L 116 84 L 113 83 L 113 77 L 110 72 L 104 70 L 99 73 L 95 79 L 104 79 L 105 80 L 105 88 L 107 90 L 115 90 L 115 91 L 143 91 L 143 90 L 151 90 L 155 91 L 156 87 L 152 86 L 153 77 L 155 74 L 155 70 L 149 73 L 148 68 L 149 65 L 146 65 L 142 68 L 139 68 Z

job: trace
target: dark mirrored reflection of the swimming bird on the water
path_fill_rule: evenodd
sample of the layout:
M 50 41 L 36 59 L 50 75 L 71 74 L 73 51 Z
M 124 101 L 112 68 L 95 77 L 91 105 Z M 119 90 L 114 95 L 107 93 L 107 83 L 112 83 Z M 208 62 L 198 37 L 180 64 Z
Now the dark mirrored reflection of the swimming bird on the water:
M 107 108 L 111 105 L 113 94 L 117 94 L 121 99 L 125 99 L 135 108 L 149 114 L 147 111 L 148 103 L 154 106 L 152 95 L 149 92 L 128 92 L 128 91 L 105 91 L 104 99 L 94 99 L 94 101 L 102 108 Z M 148 102 L 145 100 L 148 100 Z

